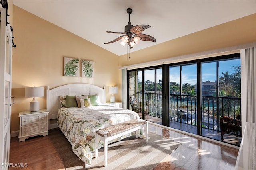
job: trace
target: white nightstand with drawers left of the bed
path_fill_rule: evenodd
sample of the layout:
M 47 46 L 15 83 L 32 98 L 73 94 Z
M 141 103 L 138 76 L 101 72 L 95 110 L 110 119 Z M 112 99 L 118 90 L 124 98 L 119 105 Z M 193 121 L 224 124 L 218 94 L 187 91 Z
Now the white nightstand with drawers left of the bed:
M 21 111 L 19 141 L 37 135 L 48 135 L 48 111 L 42 109 L 39 111 Z

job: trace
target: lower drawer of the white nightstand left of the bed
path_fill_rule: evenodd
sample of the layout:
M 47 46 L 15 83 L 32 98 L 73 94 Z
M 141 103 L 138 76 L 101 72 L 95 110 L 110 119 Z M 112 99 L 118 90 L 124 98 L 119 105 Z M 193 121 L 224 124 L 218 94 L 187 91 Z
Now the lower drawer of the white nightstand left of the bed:
M 21 136 L 36 134 L 46 131 L 46 123 L 21 127 Z

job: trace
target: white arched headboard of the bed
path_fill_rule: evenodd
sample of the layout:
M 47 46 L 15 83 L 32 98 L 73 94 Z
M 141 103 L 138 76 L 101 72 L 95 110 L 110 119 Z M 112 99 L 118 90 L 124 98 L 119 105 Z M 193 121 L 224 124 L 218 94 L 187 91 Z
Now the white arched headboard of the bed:
M 49 111 L 49 119 L 57 119 L 58 109 L 60 106 L 60 95 L 94 95 L 98 94 L 100 96 L 100 102 L 102 104 L 106 103 L 106 93 L 105 87 L 100 88 L 92 84 L 76 83 L 76 84 L 66 84 L 63 86 L 58 86 L 49 90 L 46 90 L 46 109 Z

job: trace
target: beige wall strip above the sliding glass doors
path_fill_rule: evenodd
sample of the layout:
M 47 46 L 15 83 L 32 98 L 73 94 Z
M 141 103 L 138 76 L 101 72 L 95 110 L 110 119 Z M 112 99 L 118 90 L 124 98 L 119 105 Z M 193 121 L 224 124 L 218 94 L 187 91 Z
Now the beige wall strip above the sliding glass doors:
M 256 14 L 252 14 L 132 52 L 130 59 L 127 55 L 122 55 L 119 59 L 119 67 L 256 42 L 255 30 Z

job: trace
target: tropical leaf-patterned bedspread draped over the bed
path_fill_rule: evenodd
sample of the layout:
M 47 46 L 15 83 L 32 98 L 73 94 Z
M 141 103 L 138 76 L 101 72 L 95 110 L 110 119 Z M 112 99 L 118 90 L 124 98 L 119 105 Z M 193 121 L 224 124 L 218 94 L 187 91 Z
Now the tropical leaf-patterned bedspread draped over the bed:
M 88 167 L 91 165 L 93 158 L 92 151 L 95 151 L 95 131 L 131 119 L 140 119 L 140 117 L 137 113 L 128 109 L 100 105 L 88 108 L 61 108 L 58 110 L 57 119 L 58 127 L 71 143 L 73 152 Z M 131 133 L 122 138 L 131 135 L 134 134 Z M 139 137 L 145 138 L 144 129 L 140 131 Z M 102 141 L 100 145 L 102 145 Z

